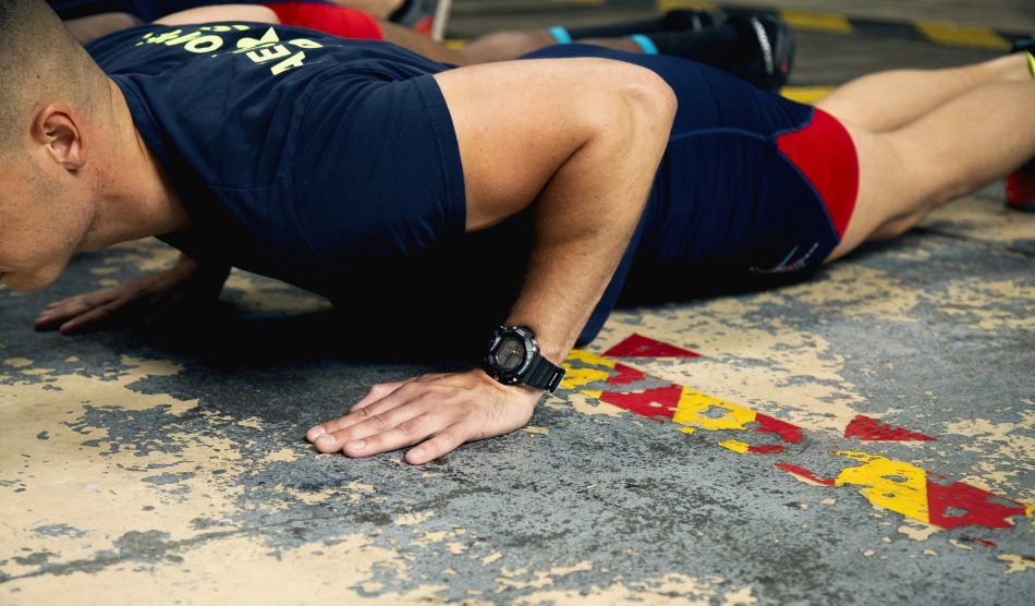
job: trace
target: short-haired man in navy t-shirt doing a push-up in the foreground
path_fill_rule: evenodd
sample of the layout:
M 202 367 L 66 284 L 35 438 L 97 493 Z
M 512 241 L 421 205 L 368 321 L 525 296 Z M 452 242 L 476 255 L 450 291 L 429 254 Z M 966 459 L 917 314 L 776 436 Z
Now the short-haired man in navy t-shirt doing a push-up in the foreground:
M 37 328 L 215 298 L 239 267 L 385 339 L 471 343 L 471 369 L 374 386 L 308 432 L 350 457 L 423 463 L 521 427 L 658 275 L 804 277 L 1035 157 L 1026 51 L 812 107 L 575 45 L 453 69 L 308 29 L 150 24 L 87 53 L 39 0 L 3 3 L 0 44 L 0 281 L 38 290 L 78 252 L 151 235 L 184 253 Z

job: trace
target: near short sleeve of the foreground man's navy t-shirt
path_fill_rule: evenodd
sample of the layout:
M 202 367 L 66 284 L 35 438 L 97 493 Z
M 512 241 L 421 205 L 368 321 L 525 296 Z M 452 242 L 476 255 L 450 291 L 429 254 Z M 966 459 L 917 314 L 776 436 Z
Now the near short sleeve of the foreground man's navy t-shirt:
M 328 263 L 395 264 L 463 237 L 460 149 L 430 75 L 331 77 L 306 104 L 297 136 L 299 227 Z

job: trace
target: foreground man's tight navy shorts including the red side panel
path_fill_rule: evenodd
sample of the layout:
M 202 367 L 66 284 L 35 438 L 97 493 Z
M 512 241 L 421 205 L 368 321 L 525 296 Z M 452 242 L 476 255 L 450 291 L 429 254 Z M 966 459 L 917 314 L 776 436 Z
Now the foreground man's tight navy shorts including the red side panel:
M 633 245 L 580 338 L 611 308 L 799 281 L 840 243 L 857 192 L 844 128 L 704 64 L 585 45 L 526 58 L 600 57 L 660 75 L 679 101 Z

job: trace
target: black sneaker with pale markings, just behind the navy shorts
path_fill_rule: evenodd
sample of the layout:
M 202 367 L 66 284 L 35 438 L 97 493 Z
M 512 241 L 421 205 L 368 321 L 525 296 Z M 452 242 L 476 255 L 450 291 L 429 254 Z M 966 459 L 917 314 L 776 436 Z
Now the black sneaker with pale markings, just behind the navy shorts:
M 741 76 L 763 90 L 777 93 L 787 84 L 794 64 L 794 31 L 769 13 L 734 17 L 755 43 L 755 56 Z

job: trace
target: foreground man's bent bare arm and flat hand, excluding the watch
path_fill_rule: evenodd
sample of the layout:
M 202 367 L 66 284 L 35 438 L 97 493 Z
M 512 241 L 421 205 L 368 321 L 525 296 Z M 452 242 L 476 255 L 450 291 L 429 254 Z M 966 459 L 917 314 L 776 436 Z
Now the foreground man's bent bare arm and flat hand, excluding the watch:
M 653 72 L 602 59 L 546 59 L 436 76 L 467 192 L 467 230 L 534 205 L 535 244 L 508 318 L 561 362 L 635 230 L 663 154 L 675 99 Z M 473 277 L 475 278 L 475 277 Z M 488 336 L 487 336 L 488 337 Z M 362 457 L 419 444 L 424 463 L 465 441 L 512 432 L 543 392 L 484 371 L 378 385 L 307 433 L 322 452 Z

